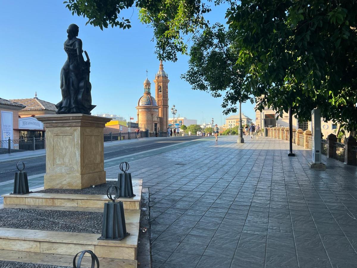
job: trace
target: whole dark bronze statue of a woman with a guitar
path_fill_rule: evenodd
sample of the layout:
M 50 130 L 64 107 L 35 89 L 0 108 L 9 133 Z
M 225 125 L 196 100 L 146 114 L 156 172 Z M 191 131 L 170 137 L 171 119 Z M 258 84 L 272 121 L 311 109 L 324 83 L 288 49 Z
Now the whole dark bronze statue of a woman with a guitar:
M 56 114 L 90 114 L 92 105 L 91 84 L 89 82 L 90 62 L 84 61 L 82 40 L 77 38 L 79 27 L 71 24 L 67 29 L 64 50 L 67 60 L 61 69 L 62 100 L 56 104 Z

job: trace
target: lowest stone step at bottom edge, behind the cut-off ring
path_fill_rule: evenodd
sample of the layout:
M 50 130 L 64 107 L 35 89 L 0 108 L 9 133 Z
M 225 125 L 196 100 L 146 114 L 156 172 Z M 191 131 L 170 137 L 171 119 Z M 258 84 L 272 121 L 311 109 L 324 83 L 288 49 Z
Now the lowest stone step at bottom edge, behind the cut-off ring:
M 73 267 L 73 257 L 77 252 L 72 255 L 52 254 L 52 253 L 39 253 L 39 252 L 19 252 L 16 250 L 0 250 L 0 260 L 9 262 L 21 262 L 21 266 L 26 267 L 26 263 L 46 264 L 46 265 L 60 265 Z M 101 268 L 136 268 L 136 260 L 124 259 L 111 259 L 111 258 L 98 258 Z M 82 260 L 82 267 L 90 267 L 91 258 L 84 256 Z

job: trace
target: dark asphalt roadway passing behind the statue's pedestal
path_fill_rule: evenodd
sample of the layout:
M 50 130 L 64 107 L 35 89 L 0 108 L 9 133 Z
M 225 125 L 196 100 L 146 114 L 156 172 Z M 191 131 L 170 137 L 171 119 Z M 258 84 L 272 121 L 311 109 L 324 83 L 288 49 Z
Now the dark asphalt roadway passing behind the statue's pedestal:
M 111 145 L 104 147 L 104 160 L 111 159 L 115 157 L 121 157 L 125 155 L 135 154 L 139 152 L 145 152 L 147 150 L 158 149 L 166 147 L 169 145 L 188 142 L 190 140 L 200 139 L 202 137 L 172 137 L 172 138 L 161 138 L 161 139 L 146 139 L 139 140 L 138 142 L 131 143 L 118 143 L 117 145 Z M 14 179 L 16 169 L 16 163 L 18 160 L 13 162 L 0 164 L 0 182 Z M 46 156 L 39 156 L 32 159 L 23 160 L 26 165 L 25 171 L 27 176 L 42 174 L 46 172 Z

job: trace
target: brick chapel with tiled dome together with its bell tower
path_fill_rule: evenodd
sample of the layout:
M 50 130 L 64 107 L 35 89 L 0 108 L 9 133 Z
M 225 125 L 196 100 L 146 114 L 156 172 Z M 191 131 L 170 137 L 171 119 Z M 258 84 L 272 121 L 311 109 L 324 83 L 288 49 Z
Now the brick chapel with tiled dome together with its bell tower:
M 151 95 L 149 79 L 144 81 L 144 95 L 136 106 L 137 119 L 141 130 L 166 132 L 169 121 L 169 79 L 160 60 L 159 71 L 155 75 L 155 97 Z

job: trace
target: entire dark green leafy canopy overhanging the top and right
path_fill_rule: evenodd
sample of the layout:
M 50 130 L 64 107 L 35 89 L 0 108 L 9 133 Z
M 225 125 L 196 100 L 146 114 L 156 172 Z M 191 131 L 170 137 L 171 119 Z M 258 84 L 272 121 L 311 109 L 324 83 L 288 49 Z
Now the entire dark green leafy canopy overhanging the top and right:
M 230 4 L 226 27 L 205 20 L 209 1 L 65 1 L 72 14 L 101 29 L 130 28 L 130 20 L 119 14 L 136 6 L 140 20 L 153 28 L 162 60 L 188 53 L 187 40 L 193 36 L 190 69 L 182 77 L 193 89 L 224 95 L 225 114 L 245 100 L 280 115 L 291 107 L 305 120 L 317 107 L 326 120 L 357 129 L 357 1 L 214 3 L 223 2 Z

